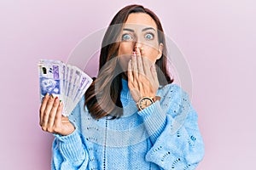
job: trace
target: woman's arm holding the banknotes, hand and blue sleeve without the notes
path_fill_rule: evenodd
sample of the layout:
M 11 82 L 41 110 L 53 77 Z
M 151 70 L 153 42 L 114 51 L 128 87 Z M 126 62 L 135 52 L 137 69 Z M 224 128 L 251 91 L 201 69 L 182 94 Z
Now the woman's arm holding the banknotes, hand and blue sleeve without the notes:
M 66 116 L 62 116 L 63 104 L 58 98 L 46 94 L 40 107 L 40 126 L 55 134 L 52 169 L 85 169 L 88 154 L 79 130 Z

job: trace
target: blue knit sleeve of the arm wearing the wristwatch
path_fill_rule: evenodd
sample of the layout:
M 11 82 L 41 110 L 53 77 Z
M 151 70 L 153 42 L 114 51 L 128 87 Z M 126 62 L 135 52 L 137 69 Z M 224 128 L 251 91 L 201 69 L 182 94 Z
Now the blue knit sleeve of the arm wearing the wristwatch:
M 145 159 L 163 169 L 195 169 L 204 156 L 197 114 L 181 88 L 165 90 L 160 102 L 138 112 L 152 143 Z

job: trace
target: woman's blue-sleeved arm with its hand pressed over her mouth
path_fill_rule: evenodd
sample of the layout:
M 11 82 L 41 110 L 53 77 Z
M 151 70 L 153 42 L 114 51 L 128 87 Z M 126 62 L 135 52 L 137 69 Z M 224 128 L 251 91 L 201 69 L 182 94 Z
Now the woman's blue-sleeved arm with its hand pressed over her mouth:
M 128 64 L 128 87 L 135 102 L 154 97 L 159 88 L 157 72 L 148 61 L 137 48 Z M 164 169 L 195 169 L 204 155 L 196 112 L 181 88 L 167 85 L 160 91 L 160 102 L 138 111 L 153 145 L 145 159 Z

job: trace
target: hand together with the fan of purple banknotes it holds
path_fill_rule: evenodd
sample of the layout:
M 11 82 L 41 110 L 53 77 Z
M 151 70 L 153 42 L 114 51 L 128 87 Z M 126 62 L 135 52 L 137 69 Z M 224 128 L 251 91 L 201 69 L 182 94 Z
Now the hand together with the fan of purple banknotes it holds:
M 49 133 L 73 133 L 75 128 L 67 117 L 84 96 L 92 79 L 78 67 L 59 60 L 41 59 L 38 71 L 42 101 L 40 126 Z

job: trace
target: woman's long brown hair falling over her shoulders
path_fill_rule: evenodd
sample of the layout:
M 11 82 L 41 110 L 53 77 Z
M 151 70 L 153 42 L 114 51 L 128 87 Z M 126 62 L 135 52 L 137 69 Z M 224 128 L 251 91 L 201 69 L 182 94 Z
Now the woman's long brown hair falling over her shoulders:
M 108 26 L 102 40 L 98 77 L 94 78 L 90 88 L 87 89 L 84 95 L 84 107 L 86 105 L 90 111 L 90 115 L 96 119 L 110 114 L 115 118 L 123 114 L 122 103 L 120 101 L 122 74 L 119 74 L 121 68 L 119 66 L 118 57 L 116 57 L 119 51 L 118 38 L 122 26 L 117 25 L 123 25 L 131 13 L 149 14 L 155 21 L 158 29 L 159 43 L 164 44 L 162 56 L 155 63 L 157 65 L 158 79 L 160 85 L 173 82 L 173 79 L 171 79 L 166 69 L 166 39 L 159 18 L 151 10 L 141 5 L 134 4 L 126 6 L 115 14 Z M 107 63 L 108 65 L 105 65 Z

